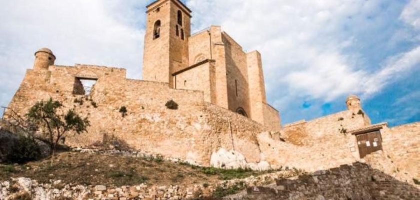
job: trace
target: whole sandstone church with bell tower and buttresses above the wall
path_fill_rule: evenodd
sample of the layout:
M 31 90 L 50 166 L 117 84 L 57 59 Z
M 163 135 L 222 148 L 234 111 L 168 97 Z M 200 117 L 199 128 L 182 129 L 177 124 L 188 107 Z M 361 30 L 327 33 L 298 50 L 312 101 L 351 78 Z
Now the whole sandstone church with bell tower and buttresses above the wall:
M 220 26 L 191 34 L 191 10 L 180 0 L 147 5 L 143 79 L 201 90 L 204 100 L 268 127 L 280 127 L 267 103 L 261 54 L 244 52 Z

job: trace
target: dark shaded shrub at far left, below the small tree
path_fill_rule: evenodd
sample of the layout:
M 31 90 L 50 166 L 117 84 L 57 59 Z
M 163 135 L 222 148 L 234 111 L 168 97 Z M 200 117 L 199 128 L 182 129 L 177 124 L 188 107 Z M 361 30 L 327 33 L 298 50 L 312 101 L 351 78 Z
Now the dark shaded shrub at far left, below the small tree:
M 32 139 L 20 136 L 12 147 L 12 152 L 7 156 L 7 160 L 12 163 L 25 163 L 37 160 L 41 157 L 39 145 Z

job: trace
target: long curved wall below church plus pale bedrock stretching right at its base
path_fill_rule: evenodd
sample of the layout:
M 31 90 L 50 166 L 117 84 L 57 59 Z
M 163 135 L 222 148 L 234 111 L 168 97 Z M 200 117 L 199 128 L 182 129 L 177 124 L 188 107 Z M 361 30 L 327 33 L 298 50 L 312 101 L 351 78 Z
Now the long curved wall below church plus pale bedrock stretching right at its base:
M 97 78 L 87 99 L 73 94 L 77 78 Z M 202 91 L 126 79 L 124 69 L 80 64 L 29 69 L 9 107 L 23 115 L 37 100 L 49 97 L 91 122 L 88 133 L 66 138 L 71 146 L 88 146 L 102 141 L 107 134 L 134 149 L 203 165 L 210 165 L 211 159 L 215 166 L 317 170 L 354 161 L 347 153 L 348 147 L 341 151 L 325 147 L 325 152 L 314 152 L 306 146 L 283 142 L 270 136 L 269 128 L 205 102 Z M 178 109 L 165 107 L 170 99 L 179 105 Z M 121 106 L 127 108 L 124 117 L 119 112 Z

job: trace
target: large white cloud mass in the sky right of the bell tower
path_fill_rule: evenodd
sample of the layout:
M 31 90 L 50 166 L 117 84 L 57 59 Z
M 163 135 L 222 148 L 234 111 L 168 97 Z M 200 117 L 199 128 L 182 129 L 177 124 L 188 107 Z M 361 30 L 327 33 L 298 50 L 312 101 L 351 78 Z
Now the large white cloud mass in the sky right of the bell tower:
M 418 1 L 412 0 L 407 7 Z M 273 101 L 280 109 L 303 97 L 322 101 L 349 93 L 370 97 L 419 63 L 418 48 L 395 56 L 393 62 L 381 68 L 380 63 L 371 67 L 367 57 L 358 51 L 347 50 L 356 44 L 361 50 L 372 45 L 368 40 L 359 41 L 358 36 L 366 35 L 366 30 L 387 27 L 389 20 L 398 20 L 380 15 L 397 2 L 389 2 L 390 8 L 384 8 L 382 0 L 189 0 L 188 3 L 199 12 L 193 22 L 201 25 L 195 29 L 220 23 L 245 49 L 261 51 L 267 92 L 275 96 Z M 407 9 L 411 10 L 406 11 L 407 16 L 418 20 L 420 12 Z M 375 37 L 373 34 L 381 32 L 367 33 Z M 279 91 L 293 97 L 280 96 Z

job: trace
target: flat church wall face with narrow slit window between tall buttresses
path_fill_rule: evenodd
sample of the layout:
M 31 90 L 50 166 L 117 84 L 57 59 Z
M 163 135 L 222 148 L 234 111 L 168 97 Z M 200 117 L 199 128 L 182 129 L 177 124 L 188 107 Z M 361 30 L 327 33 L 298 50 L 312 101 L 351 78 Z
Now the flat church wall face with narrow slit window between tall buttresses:
M 248 72 L 246 53 L 229 35 L 222 32 L 224 43 L 227 76 L 227 98 L 230 110 L 236 111 L 238 107 L 245 110 L 252 117 L 248 91 Z M 236 88 L 237 94 L 236 95 Z

